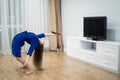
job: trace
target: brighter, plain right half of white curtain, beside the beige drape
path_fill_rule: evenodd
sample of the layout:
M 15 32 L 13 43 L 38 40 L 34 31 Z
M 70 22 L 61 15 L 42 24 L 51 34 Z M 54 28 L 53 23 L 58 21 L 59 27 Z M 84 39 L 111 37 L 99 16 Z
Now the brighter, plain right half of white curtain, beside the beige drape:
M 25 0 L 25 26 L 37 34 L 48 32 L 48 0 Z

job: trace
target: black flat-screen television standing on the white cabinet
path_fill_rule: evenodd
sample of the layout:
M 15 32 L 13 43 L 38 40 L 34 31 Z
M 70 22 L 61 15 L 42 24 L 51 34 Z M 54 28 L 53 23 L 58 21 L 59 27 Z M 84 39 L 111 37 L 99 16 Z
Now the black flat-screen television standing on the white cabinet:
M 84 37 L 91 38 L 93 40 L 105 40 L 107 35 L 107 17 L 84 17 Z

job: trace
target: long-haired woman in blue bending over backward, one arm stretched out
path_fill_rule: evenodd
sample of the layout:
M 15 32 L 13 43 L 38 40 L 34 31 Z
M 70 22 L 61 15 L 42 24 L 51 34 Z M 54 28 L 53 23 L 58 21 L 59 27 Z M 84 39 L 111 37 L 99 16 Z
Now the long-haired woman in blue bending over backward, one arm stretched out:
M 29 59 L 33 54 L 33 63 L 37 69 L 41 69 L 42 65 L 42 55 L 43 55 L 43 44 L 41 38 L 52 36 L 54 34 L 59 34 L 56 32 L 52 33 L 41 33 L 41 34 L 34 34 L 32 32 L 21 32 L 14 36 L 12 41 L 12 54 L 16 57 L 16 59 L 23 64 L 23 68 L 25 68 L 25 74 L 31 74 L 33 71 L 31 70 L 30 66 L 28 65 Z M 30 44 L 30 48 L 27 52 L 26 60 L 21 57 L 21 47 L 27 42 Z

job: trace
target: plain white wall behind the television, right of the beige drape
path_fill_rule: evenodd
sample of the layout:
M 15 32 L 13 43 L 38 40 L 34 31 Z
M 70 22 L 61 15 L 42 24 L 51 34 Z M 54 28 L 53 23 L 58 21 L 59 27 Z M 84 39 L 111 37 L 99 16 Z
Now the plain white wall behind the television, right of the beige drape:
M 85 16 L 107 16 L 107 39 L 120 41 L 120 0 L 62 0 L 61 5 L 64 44 L 68 36 L 83 36 Z

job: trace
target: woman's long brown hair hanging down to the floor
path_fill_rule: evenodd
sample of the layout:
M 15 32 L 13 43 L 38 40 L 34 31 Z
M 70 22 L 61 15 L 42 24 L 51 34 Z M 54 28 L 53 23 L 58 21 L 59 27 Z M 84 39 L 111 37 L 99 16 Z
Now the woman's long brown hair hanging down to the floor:
M 42 57 L 43 57 L 43 45 L 38 45 L 35 48 L 35 52 L 33 54 L 33 64 L 36 67 L 36 69 L 41 69 Z

